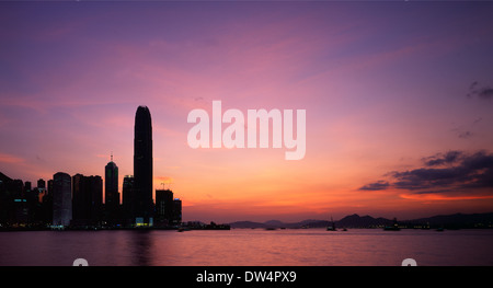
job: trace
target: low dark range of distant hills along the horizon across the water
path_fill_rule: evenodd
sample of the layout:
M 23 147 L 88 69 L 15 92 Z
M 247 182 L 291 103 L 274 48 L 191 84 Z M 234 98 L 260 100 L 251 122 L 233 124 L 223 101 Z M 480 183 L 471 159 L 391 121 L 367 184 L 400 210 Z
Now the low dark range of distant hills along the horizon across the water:
M 493 212 L 490 214 L 454 214 L 439 215 L 428 218 L 412 220 L 399 220 L 398 222 L 406 226 L 429 224 L 431 227 L 445 228 L 485 228 L 493 224 Z M 348 215 L 339 221 L 335 221 L 336 228 L 371 228 L 390 226 L 393 220 L 386 218 L 374 218 L 371 216 L 359 216 L 357 214 Z M 238 221 L 229 223 L 231 228 L 323 228 L 331 226 L 331 221 L 308 219 L 295 223 L 286 223 L 279 220 L 268 220 L 266 222 Z

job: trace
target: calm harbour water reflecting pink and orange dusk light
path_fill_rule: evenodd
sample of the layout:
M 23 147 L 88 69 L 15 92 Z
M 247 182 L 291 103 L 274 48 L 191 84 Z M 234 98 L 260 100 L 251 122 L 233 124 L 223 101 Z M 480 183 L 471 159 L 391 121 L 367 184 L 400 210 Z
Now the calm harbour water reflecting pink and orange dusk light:
M 0 265 L 493 265 L 493 230 L 323 229 L 0 233 Z

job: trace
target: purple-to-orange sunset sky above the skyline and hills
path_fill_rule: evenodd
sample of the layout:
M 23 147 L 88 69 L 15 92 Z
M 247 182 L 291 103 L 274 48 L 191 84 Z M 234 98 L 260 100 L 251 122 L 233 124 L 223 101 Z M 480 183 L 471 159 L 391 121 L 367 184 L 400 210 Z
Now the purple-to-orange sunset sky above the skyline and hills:
M 492 2 L 0 2 L 0 172 L 133 174 L 183 220 L 493 210 Z M 305 110 L 306 154 L 188 146 L 193 110 Z M 222 125 L 222 129 L 228 127 Z M 272 127 L 271 127 L 272 128 Z

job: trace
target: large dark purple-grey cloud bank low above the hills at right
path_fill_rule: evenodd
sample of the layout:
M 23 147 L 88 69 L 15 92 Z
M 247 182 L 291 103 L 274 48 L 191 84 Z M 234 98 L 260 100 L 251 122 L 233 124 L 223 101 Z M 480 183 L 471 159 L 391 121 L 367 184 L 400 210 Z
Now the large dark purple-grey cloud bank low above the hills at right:
M 448 151 L 423 158 L 424 166 L 387 173 L 391 181 L 378 181 L 360 191 L 401 189 L 406 195 L 493 197 L 493 154 L 486 151 L 466 153 Z

